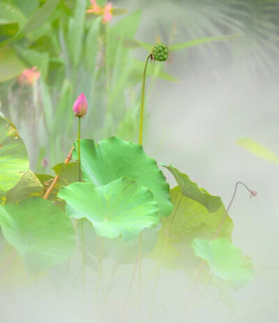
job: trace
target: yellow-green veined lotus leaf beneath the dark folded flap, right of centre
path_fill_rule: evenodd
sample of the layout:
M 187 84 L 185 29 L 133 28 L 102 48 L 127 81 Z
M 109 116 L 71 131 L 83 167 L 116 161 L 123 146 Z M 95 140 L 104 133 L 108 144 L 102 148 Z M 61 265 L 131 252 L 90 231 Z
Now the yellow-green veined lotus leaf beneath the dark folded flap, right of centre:
M 218 211 L 210 213 L 199 202 L 181 193 L 179 186 L 170 190 L 174 211 L 171 216 L 161 218 L 162 228 L 158 233 L 158 242 L 149 257 L 160 260 L 168 268 L 190 269 L 195 267 L 197 257 L 191 244 L 195 238 L 213 239 L 225 214 L 222 204 Z M 227 215 L 219 236 L 231 239 L 232 219 Z

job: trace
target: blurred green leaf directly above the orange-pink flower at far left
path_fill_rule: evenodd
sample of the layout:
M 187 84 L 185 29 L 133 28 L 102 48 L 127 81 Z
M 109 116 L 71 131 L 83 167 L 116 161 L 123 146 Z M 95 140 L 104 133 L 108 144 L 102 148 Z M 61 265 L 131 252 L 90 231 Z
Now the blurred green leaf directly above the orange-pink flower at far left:
M 17 54 L 22 58 L 22 61 L 27 63 L 30 67 L 37 66 L 41 75 L 45 78 L 47 76 L 49 55 L 47 52 L 38 52 L 37 50 L 31 50 L 27 47 L 14 45 L 17 50 Z

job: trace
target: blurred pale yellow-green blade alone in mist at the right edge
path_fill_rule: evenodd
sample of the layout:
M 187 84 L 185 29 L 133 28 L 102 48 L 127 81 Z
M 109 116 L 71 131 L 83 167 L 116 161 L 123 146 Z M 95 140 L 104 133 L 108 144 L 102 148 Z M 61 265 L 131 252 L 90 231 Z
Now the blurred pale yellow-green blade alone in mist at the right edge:
M 262 146 L 262 144 L 255 142 L 255 140 L 249 138 L 240 138 L 237 140 L 237 143 L 246 150 L 250 151 L 250 153 L 254 153 L 254 155 L 269 160 L 272 163 L 279 164 L 279 155 Z

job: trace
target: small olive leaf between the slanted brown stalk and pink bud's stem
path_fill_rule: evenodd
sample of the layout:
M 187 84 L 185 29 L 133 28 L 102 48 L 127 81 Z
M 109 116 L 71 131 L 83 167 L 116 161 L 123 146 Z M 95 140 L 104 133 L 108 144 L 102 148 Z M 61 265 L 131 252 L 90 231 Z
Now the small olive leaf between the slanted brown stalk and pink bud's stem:
M 60 163 L 53 167 L 56 175 L 59 175 L 60 185 L 68 186 L 70 183 L 79 181 L 78 163 Z

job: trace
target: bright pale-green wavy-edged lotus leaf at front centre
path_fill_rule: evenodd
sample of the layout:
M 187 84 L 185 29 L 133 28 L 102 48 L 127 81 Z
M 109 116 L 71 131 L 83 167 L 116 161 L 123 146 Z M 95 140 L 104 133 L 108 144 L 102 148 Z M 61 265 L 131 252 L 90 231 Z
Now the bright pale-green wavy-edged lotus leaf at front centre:
M 158 223 L 158 204 L 148 188 L 121 177 L 105 186 L 72 183 L 57 195 L 66 200 L 69 216 L 91 221 L 99 236 L 133 239 L 144 227 Z

